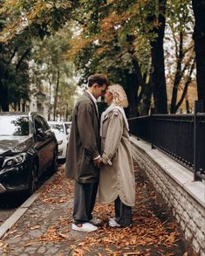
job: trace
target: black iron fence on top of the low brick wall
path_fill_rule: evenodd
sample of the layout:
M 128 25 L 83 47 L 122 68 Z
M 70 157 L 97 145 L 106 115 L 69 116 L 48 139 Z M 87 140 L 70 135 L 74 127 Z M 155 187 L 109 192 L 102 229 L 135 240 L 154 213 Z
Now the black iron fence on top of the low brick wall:
M 201 105 L 202 106 L 202 105 Z M 152 114 L 129 120 L 130 131 L 138 139 L 161 149 L 168 156 L 195 173 L 195 180 L 205 179 L 205 114 Z

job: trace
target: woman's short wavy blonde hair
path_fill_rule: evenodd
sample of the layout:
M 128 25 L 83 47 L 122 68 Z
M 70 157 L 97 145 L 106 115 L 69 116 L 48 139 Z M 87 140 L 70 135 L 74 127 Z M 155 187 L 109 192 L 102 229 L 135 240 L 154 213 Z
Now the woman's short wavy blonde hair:
M 119 84 L 108 86 L 107 91 L 113 93 L 113 103 L 120 107 L 128 107 L 126 92 Z

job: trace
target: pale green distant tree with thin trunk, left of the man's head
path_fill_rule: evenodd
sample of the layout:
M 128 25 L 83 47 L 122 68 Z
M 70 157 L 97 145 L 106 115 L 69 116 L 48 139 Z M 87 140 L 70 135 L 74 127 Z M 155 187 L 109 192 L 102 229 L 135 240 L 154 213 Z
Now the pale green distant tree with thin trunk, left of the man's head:
M 66 119 L 71 114 L 76 85 L 72 79 L 74 66 L 65 59 L 65 52 L 69 49 L 67 38 L 70 36 L 71 31 L 65 27 L 55 32 L 52 37 L 33 42 L 34 63 L 31 70 L 35 83 L 49 95 L 48 120 L 52 116 L 55 121 L 58 115 L 60 118 L 63 115 Z

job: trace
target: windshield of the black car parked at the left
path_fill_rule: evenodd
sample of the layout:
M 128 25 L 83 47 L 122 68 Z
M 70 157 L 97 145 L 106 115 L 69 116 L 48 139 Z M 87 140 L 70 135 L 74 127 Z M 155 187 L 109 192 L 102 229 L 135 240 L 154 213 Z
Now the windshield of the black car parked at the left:
M 21 115 L 0 116 L 0 135 L 29 135 L 29 118 Z

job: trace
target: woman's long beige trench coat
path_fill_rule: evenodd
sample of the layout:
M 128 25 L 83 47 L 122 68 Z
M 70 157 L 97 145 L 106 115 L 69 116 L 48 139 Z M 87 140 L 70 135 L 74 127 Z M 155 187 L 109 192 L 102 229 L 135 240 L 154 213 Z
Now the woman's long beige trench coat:
M 135 179 L 131 142 L 123 115 L 118 109 L 105 116 L 102 125 L 101 155 L 104 165 L 99 173 L 99 202 L 134 206 Z

